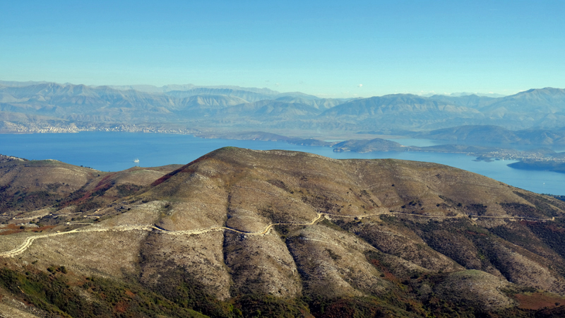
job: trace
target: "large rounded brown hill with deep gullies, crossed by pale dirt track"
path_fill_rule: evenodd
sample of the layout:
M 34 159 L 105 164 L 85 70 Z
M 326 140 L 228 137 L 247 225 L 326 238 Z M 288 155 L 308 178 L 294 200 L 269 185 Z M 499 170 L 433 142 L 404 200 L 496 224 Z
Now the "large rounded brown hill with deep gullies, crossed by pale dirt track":
M 149 179 L 88 211 L 91 225 L 7 235 L 23 246 L 4 252 L 10 266 L 133 279 L 220 317 L 249 297 L 303 317 L 453 317 L 519 314 L 526 291 L 565 296 L 565 203 L 464 170 L 227 147 Z

